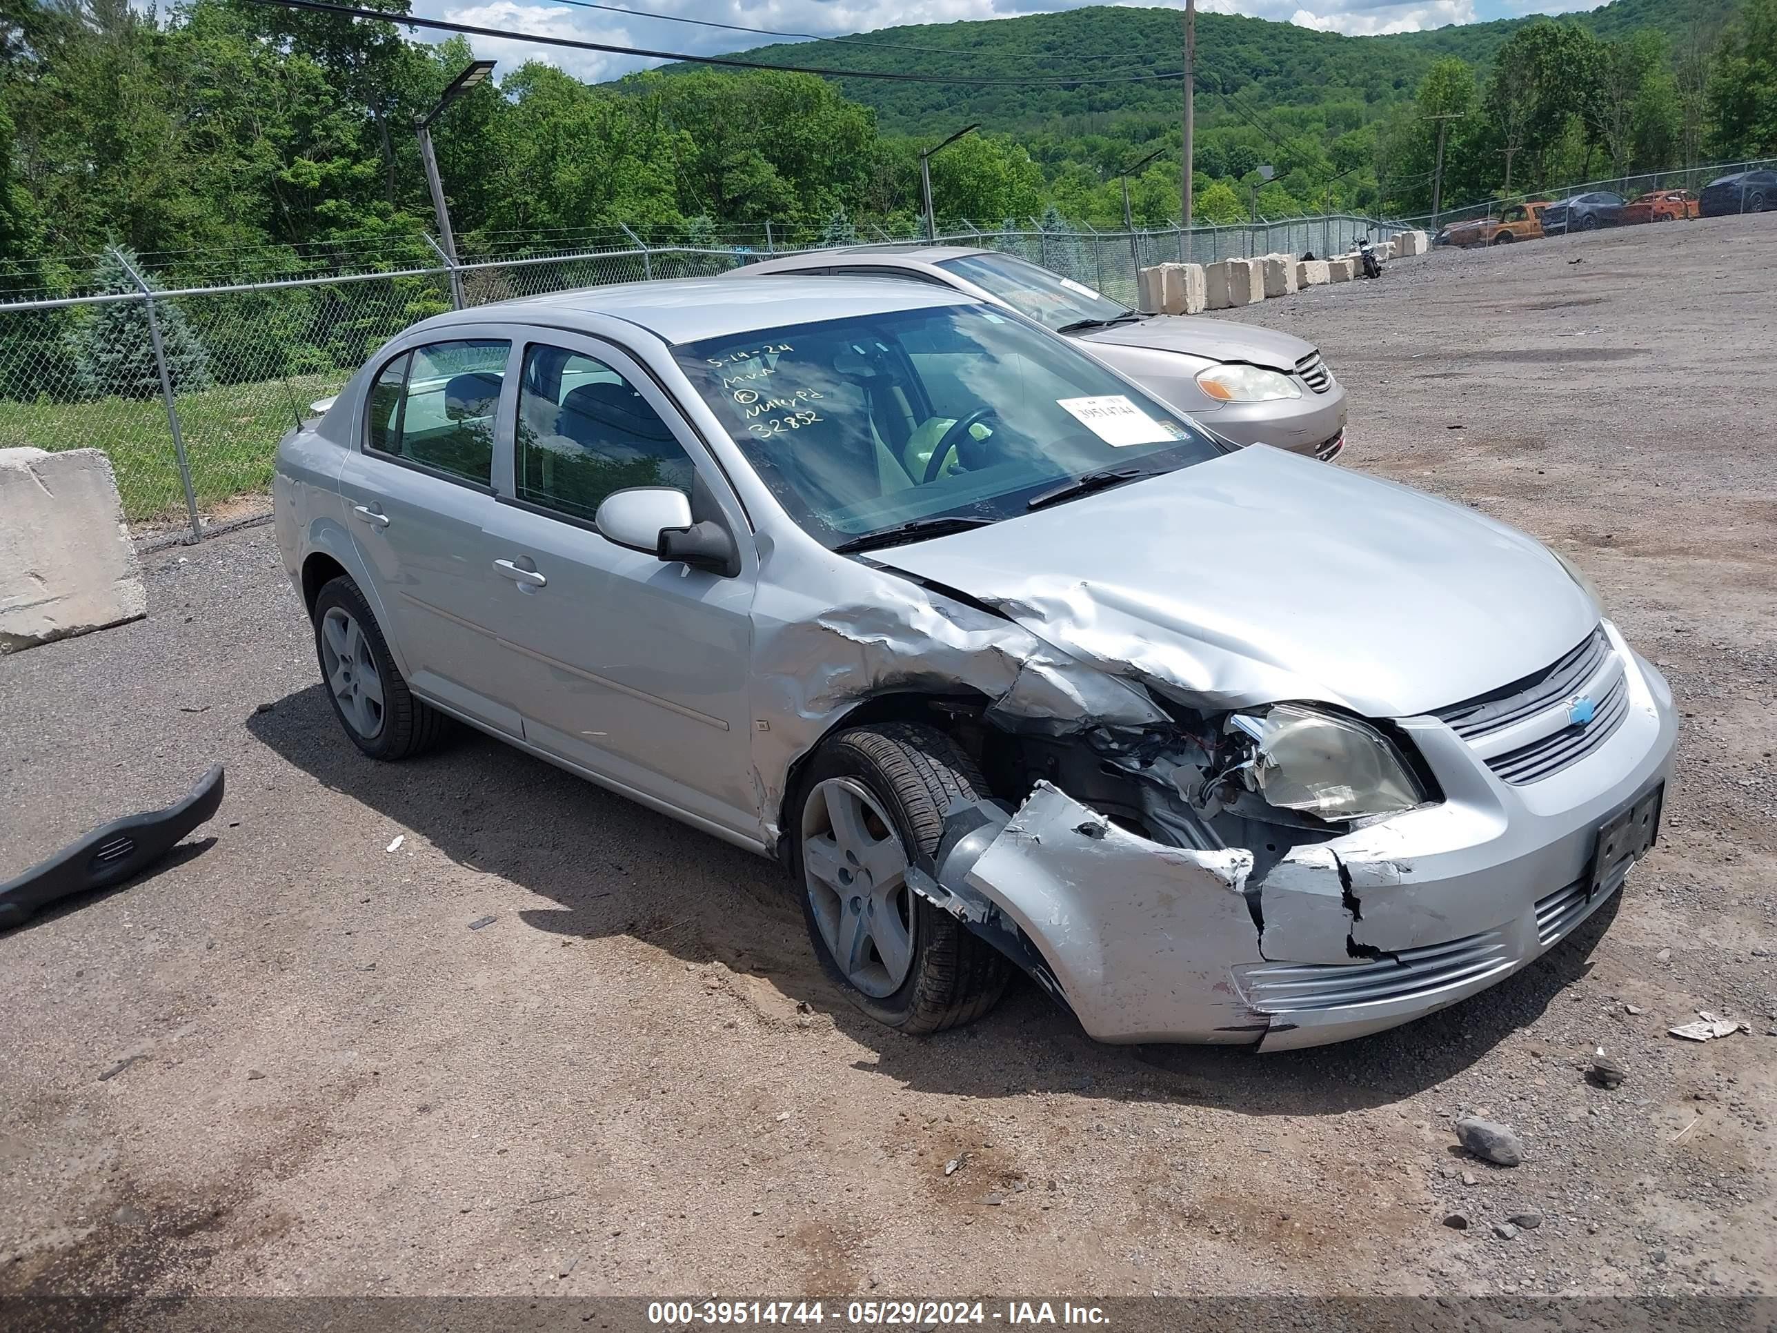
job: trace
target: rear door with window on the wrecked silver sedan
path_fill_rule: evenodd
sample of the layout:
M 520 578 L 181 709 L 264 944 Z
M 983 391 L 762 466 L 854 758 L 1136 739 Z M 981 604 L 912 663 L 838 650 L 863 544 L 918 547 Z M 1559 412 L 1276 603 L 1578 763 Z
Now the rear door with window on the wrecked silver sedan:
M 483 531 L 510 359 L 512 339 L 482 327 L 389 355 L 339 489 L 409 686 L 515 736 L 517 713 L 498 702 Z

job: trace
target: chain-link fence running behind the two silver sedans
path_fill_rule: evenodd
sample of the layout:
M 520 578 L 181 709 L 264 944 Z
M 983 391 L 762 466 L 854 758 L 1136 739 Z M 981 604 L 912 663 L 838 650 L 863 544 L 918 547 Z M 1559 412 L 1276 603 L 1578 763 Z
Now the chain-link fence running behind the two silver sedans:
M 1153 263 L 1329 254 L 1395 229 L 1345 215 L 1191 231 L 1054 231 L 1032 219 L 1029 229 L 951 224 L 940 240 L 1024 256 L 1136 306 L 1136 272 Z M 896 240 L 881 227 L 862 231 L 860 243 Z M 139 537 L 195 540 L 261 517 L 279 437 L 418 320 L 455 304 L 723 274 L 817 249 L 819 236 L 755 227 L 739 242 L 693 240 L 709 242 L 627 227 L 617 236 L 496 238 L 512 243 L 483 240 L 457 265 L 428 238 L 242 252 L 252 279 L 233 283 L 190 281 L 224 277 L 213 256 L 114 251 L 55 261 L 46 265 L 59 274 L 55 295 L 20 283 L 0 291 L 0 448 L 101 448 Z M 156 267 L 181 284 L 163 286 Z

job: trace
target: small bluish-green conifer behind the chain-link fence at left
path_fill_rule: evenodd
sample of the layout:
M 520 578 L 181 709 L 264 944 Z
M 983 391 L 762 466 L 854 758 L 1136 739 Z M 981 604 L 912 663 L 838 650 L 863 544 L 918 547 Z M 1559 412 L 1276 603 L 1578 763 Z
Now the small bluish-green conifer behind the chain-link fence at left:
M 105 293 L 140 291 L 130 277 L 128 263 L 140 272 L 130 251 L 107 254 L 98 268 L 98 290 Z M 151 290 L 160 283 L 144 275 Z M 167 375 L 176 391 L 208 389 L 210 355 L 185 322 L 185 311 L 167 300 L 155 302 L 160 343 L 167 357 Z M 155 364 L 155 339 L 147 320 L 147 302 L 114 300 L 96 306 L 75 331 L 75 375 L 89 398 L 153 398 L 160 393 L 160 368 Z

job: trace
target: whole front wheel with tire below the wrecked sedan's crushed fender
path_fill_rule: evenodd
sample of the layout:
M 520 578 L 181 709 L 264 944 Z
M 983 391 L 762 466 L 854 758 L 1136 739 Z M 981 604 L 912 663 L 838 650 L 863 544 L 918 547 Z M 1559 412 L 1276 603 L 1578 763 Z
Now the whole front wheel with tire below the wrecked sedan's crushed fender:
M 952 802 L 986 791 L 949 736 L 897 722 L 826 741 L 809 764 L 791 866 L 814 953 L 846 999 L 910 1034 L 974 1022 L 1011 967 L 906 883 L 931 857 Z

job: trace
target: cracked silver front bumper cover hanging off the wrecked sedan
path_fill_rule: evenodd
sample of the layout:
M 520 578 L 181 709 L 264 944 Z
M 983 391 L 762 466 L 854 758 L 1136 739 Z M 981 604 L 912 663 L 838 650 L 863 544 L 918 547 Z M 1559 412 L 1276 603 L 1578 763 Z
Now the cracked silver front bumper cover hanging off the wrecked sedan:
M 1151 842 L 1040 784 L 915 887 L 1029 954 L 1100 1042 L 1287 1050 L 1395 1027 L 1528 967 L 1622 887 L 1628 866 L 1587 898 L 1596 830 L 1667 780 L 1676 736 L 1665 682 L 1630 659 L 1633 714 L 1583 762 L 1514 789 L 1413 720 L 1446 800 L 1260 883 L 1247 851 Z

